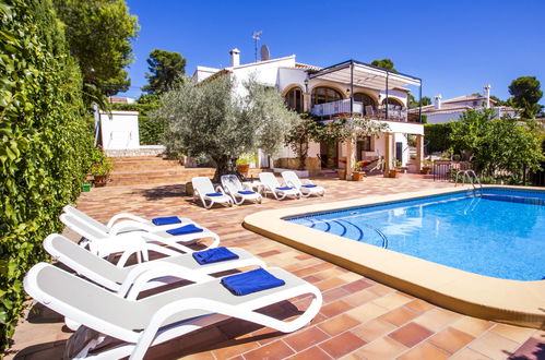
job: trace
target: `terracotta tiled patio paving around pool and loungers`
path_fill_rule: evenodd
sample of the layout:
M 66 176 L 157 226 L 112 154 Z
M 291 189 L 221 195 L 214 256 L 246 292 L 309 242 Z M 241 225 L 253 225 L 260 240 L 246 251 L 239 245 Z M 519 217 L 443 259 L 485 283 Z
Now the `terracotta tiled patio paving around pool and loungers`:
M 216 231 L 222 245 L 245 248 L 270 266 L 315 284 L 323 307 L 310 325 L 292 334 L 238 320 L 209 326 L 152 348 L 146 359 L 545 359 L 545 332 L 484 321 L 436 307 L 362 275 L 310 256 L 242 228 L 245 216 L 269 208 L 348 200 L 370 194 L 412 192 L 452 184 L 426 176 L 369 177 L 364 182 L 316 179 L 324 197 L 276 201 L 210 211 L 183 193 L 183 184 L 92 189 L 78 207 L 106 221 L 119 212 L 143 217 L 180 215 Z M 78 239 L 72 231 L 66 231 Z M 265 311 L 289 317 L 305 299 Z M 59 359 L 71 333 L 62 317 L 34 305 L 17 325 L 8 359 Z

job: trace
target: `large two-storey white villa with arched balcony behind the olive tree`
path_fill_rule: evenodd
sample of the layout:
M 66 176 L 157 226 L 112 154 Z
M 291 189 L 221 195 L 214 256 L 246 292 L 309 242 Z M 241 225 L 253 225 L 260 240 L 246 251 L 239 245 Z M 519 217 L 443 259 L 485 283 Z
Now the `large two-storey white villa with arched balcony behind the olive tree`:
M 416 170 L 420 168 L 424 127 L 419 113 L 407 112 L 407 86 L 418 87 L 422 96 L 422 81 L 418 77 L 356 60 L 321 69 L 297 62 L 295 55 L 246 64 L 240 63 L 238 49 L 230 50 L 229 55 L 230 67 L 197 67 L 193 79 L 202 81 L 211 75 L 225 73 L 232 74 L 240 84 L 253 74 L 263 85 L 275 87 L 284 96 L 286 106 L 297 112 L 309 112 L 322 120 L 349 117 L 353 113 L 389 125 L 388 132 L 358 139 L 357 142 L 333 146 L 310 144 L 307 166 L 313 169 L 309 170 L 319 170 L 320 167 L 352 169 L 357 160 L 383 157 L 384 173 L 388 173 L 395 163 L 407 165 L 410 134 L 416 136 L 417 158 L 414 166 Z M 295 158 L 295 154 L 287 147 L 274 159 L 286 158 Z M 268 160 L 268 157 L 260 156 L 259 166 L 269 166 Z

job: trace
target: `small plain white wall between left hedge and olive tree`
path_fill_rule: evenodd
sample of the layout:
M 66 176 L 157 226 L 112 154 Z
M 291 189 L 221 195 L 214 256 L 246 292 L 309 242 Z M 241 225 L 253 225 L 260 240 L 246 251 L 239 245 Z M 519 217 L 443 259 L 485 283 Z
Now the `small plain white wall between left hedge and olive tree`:
M 138 111 L 111 111 L 111 117 L 99 112 L 104 149 L 133 149 L 140 147 Z

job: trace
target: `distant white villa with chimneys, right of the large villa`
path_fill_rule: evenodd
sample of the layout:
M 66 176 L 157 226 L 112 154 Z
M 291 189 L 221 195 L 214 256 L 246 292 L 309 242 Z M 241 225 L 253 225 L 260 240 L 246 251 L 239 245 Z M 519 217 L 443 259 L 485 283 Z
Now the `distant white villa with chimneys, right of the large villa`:
M 490 98 L 490 85 L 485 85 L 484 89 L 484 96 L 459 96 L 448 100 L 442 100 L 441 95 L 436 95 L 434 97 L 434 105 L 422 107 L 422 115 L 427 117 L 428 123 L 457 121 L 469 109 L 481 110 L 493 108 L 498 118 L 506 115 L 513 118 L 517 117 L 516 109 L 508 106 L 497 106 L 497 101 Z

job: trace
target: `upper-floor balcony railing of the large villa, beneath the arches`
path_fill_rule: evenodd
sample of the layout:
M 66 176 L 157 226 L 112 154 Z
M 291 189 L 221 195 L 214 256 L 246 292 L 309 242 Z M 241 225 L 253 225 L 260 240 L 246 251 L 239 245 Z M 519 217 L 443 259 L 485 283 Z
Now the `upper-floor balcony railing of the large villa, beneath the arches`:
M 351 113 L 351 100 L 337 100 L 332 103 L 318 104 L 310 110 L 312 115 L 323 118 L 334 118 L 340 115 Z M 388 105 L 388 111 L 386 106 L 372 106 L 366 105 L 364 103 L 354 101 L 353 107 L 354 115 L 368 117 L 370 119 L 378 120 L 389 120 L 389 121 L 407 121 L 407 110 L 405 107 L 399 105 Z

